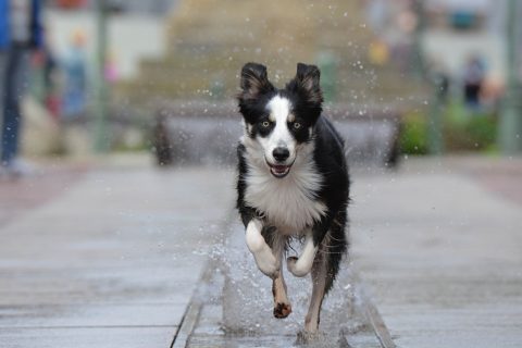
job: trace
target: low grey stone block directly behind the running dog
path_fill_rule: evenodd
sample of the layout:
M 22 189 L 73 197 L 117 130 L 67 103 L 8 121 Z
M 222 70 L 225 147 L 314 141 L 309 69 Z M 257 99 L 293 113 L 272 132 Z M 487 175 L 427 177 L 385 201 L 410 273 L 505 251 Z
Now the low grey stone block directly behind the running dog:
M 357 109 L 347 104 L 326 108 L 346 140 L 346 157 L 353 165 L 394 165 L 398 156 L 399 111 Z M 243 126 L 234 103 L 171 103 L 156 120 L 153 145 L 158 163 L 219 164 L 237 162 L 236 146 Z

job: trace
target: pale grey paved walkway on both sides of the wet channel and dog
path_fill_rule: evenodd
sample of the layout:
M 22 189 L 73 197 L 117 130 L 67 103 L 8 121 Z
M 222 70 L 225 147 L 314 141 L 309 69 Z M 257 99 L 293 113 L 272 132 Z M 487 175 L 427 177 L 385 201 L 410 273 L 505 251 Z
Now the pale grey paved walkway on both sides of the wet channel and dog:
M 0 347 L 169 347 L 223 239 L 234 176 L 57 171 L 14 191 L 0 182 Z M 522 346 L 521 172 L 520 160 L 446 159 L 356 174 L 353 264 L 399 347 Z M 199 338 L 217 330 L 215 309 Z

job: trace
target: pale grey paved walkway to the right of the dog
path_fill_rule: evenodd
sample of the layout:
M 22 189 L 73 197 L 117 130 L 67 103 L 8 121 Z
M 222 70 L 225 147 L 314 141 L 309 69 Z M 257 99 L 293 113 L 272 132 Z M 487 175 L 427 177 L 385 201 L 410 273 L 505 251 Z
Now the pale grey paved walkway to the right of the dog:
M 522 161 L 361 176 L 355 263 L 398 347 L 522 347 Z

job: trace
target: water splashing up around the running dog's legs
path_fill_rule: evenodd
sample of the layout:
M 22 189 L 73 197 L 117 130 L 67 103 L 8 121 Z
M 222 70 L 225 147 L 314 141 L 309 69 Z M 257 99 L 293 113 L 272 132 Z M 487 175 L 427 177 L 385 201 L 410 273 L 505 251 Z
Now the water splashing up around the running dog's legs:
M 294 277 L 284 270 L 293 313 L 281 320 L 272 314 L 272 281 L 257 269 L 245 245 L 243 226 L 232 225 L 227 237 L 214 248 L 211 258 L 224 275 L 222 324 L 226 333 L 294 335 L 302 330 L 312 288 L 310 277 Z M 344 261 L 337 281 L 323 303 L 321 332 L 338 337 L 340 331 L 351 332 L 362 325 L 353 320 L 355 288 L 349 263 Z

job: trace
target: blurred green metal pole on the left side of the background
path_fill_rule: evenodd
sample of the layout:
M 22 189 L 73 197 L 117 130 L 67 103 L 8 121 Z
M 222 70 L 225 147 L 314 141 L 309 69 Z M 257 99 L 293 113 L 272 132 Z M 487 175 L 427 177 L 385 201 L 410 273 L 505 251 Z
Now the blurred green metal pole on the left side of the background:
M 96 62 L 96 109 L 95 109 L 95 151 L 109 150 L 107 132 L 108 86 L 105 80 L 107 58 L 107 4 L 105 0 L 96 0 L 97 62 Z

